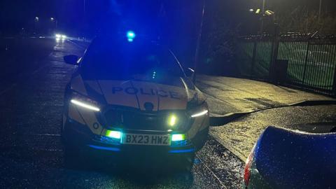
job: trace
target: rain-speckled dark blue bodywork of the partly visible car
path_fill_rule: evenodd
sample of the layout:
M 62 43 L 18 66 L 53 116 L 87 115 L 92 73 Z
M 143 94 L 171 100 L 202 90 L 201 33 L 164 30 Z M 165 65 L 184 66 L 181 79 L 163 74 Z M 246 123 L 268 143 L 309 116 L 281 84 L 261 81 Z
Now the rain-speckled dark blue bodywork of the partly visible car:
M 255 153 L 260 175 L 274 188 L 335 186 L 336 134 L 268 127 Z

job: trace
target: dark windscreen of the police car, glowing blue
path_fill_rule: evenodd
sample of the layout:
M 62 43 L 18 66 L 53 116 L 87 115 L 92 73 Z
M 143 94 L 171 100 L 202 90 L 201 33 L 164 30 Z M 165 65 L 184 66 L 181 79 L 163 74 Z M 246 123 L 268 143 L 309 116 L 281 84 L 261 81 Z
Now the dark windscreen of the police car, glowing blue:
M 85 79 L 151 80 L 183 77 L 174 55 L 155 43 L 143 41 L 93 41 L 87 50 L 80 71 Z

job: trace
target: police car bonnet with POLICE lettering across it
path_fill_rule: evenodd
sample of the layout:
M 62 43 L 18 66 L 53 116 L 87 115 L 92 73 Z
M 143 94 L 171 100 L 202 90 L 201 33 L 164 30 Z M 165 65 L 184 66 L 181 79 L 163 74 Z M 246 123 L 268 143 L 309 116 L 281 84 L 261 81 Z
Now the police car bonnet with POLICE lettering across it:
M 72 86 L 73 90 L 80 90 L 101 103 L 141 111 L 184 110 L 193 99 L 204 101 L 202 93 L 184 78 L 155 83 L 144 80 L 82 80 L 78 76 L 73 78 Z

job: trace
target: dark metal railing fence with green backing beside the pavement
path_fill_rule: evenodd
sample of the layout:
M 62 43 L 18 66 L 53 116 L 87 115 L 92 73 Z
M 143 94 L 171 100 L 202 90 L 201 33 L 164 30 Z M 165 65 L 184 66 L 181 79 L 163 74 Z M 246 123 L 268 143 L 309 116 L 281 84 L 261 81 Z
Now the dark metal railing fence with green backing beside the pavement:
M 272 80 L 279 71 L 277 64 L 286 62 L 283 83 L 336 94 L 335 37 L 245 36 L 236 49 L 241 76 Z

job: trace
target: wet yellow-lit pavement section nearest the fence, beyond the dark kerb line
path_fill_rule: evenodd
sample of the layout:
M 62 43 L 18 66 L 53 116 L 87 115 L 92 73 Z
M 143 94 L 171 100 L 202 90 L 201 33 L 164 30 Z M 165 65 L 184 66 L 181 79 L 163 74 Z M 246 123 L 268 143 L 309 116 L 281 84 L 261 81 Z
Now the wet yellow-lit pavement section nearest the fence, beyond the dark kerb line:
M 197 76 L 196 85 L 207 95 L 213 117 L 295 106 L 302 102 L 336 102 L 322 94 L 244 78 L 200 75 Z

